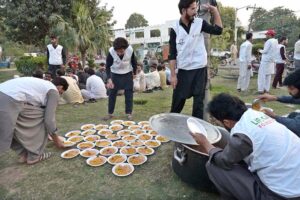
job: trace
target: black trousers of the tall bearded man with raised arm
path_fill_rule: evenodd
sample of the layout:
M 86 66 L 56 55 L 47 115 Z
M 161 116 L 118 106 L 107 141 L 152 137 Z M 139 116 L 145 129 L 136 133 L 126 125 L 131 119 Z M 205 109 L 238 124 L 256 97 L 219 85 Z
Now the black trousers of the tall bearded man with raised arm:
M 194 70 L 179 69 L 177 86 L 173 90 L 171 112 L 180 113 L 188 98 L 193 99 L 193 117 L 203 119 L 207 68 Z

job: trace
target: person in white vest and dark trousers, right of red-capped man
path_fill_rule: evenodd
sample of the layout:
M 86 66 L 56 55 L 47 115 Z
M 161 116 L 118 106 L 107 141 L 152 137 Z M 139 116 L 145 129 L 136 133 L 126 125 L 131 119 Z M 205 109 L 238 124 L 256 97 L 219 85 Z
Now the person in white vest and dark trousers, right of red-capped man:
M 275 63 L 276 63 L 276 74 L 274 76 L 273 84 L 272 87 L 274 89 L 277 88 L 277 85 L 279 83 L 279 86 L 282 87 L 282 74 L 284 71 L 284 66 L 287 61 L 287 56 L 286 56 L 286 50 L 285 46 L 287 45 L 287 38 L 286 37 L 281 37 L 279 39 L 279 44 L 277 47 L 276 51 L 276 57 L 275 57 Z

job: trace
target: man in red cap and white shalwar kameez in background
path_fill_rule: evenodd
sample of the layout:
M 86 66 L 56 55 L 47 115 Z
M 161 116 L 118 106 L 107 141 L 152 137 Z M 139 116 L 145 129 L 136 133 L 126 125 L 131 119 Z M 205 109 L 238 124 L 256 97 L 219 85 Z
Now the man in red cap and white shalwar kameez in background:
M 278 46 L 278 41 L 274 38 L 275 31 L 273 29 L 268 30 L 265 34 L 268 40 L 264 45 L 264 49 L 258 50 L 262 54 L 257 78 L 259 94 L 269 93 L 270 91 L 271 76 L 275 72 L 275 58 Z

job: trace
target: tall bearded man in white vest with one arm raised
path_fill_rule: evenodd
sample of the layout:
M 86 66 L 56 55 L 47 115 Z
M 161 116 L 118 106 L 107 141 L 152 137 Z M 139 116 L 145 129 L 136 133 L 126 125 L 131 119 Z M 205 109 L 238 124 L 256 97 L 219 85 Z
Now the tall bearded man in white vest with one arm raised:
M 170 70 L 173 97 L 171 112 L 180 113 L 186 99 L 194 97 L 194 117 L 203 118 L 204 96 L 207 80 L 207 52 L 203 32 L 220 35 L 222 21 L 218 9 L 209 4 L 202 5 L 214 17 L 214 25 L 201 18 L 195 18 L 196 0 L 180 0 L 180 19 L 170 32 Z M 175 68 L 178 69 L 176 73 Z

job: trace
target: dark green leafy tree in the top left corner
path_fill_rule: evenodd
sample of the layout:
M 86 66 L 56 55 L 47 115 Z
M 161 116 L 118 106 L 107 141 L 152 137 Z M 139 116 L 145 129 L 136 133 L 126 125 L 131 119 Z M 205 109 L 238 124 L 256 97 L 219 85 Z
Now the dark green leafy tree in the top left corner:
M 43 45 L 49 33 L 49 17 L 56 13 L 70 17 L 71 0 L 0 0 L 0 18 L 7 26 L 8 39 Z

